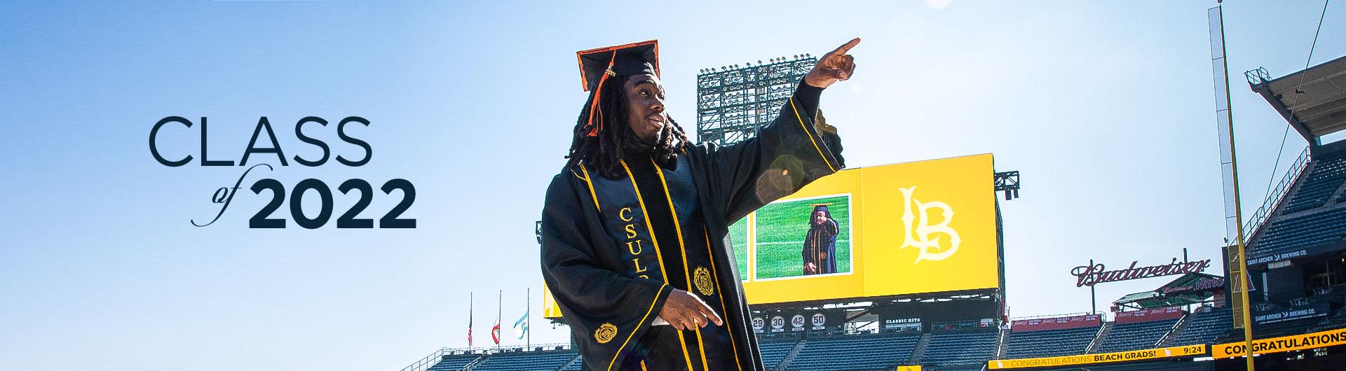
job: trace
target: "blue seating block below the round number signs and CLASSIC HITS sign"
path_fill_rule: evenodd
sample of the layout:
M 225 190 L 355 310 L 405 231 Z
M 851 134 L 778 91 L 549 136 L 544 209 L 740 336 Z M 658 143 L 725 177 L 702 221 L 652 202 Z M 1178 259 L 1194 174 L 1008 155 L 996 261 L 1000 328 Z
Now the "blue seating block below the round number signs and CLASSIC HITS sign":
M 812 337 L 786 370 L 892 370 L 911 359 L 918 340 L 919 335 L 906 333 Z

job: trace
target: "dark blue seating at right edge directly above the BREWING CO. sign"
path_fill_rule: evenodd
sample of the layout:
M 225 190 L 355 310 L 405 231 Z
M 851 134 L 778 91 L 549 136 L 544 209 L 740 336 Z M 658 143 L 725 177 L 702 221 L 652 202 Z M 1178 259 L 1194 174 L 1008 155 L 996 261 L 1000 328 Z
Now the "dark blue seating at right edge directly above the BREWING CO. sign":
M 1346 237 L 1346 207 L 1277 219 L 1261 239 L 1249 246 L 1252 251 L 1248 253 L 1248 258 L 1315 247 L 1341 241 L 1342 237 Z

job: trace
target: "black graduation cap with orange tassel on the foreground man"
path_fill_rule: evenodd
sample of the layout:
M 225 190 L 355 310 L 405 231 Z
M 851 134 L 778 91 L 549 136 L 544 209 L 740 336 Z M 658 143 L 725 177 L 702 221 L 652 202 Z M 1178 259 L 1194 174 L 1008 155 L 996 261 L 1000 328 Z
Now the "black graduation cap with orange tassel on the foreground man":
M 581 50 L 575 52 L 575 59 L 580 65 L 580 87 L 584 91 L 595 90 L 590 101 L 588 122 L 584 124 L 588 136 L 595 137 L 603 128 L 603 114 L 598 106 L 603 82 L 608 77 L 658 75 L 660 40 Z M 598 117 L 598 125 L 594 125 L 594 117 Z

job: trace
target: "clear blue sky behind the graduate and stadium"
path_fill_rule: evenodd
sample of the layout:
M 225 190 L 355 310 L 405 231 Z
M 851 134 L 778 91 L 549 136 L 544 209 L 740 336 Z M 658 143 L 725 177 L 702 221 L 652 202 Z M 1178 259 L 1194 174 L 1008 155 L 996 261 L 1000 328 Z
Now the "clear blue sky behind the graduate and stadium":
M 997 169 L 1023 172 L 1023 198 L 1001 203 L 1011 315 L 1085 312 L 1089 292 L 1067 272 L 1090 258 L 1158 263 L 1189 247 L 1219 259 L 1211 5 L 5 1 L 0 359 L 15 370 L 398 370 L 466 345 L 468 292 L 483 344 L 497 290 L 507 327 L 525 288 L 533 341 L 565 341 L 536 316 L 533 220 L 584 99 L 573 52 L 654 38 L 669 110 L 688 129 L 699 69 L 863 38 L 855 78 L 821 104 L 848 164 L 995 153 Z M 1240 73 L 1300 70 L 1320 11 L 1226 3 L 1245 214 L 1265 194 L 1285 122 Z M 1334 36 L 1346 35 L 1346 8 L 1327 9 L 1322 35 L 1312 63 L 1346 55 Z M 334 124 L 306 132 L 358 157 L 334 126 L 365 117 L 373 124 L 350 133 L 373 147 L 367 165 L 292 163 L 265 176 L 376 188 L 404 177 L 419 227 L 253 230 L 267 198 L 246 190 L 215 226 L 192 227 L 242 169 L 157 164 L 147 137 L 167 116 L 209 117 L 210 157 L 234 161 L 262 116 L 287 156 L 318 157 L 292 130 L 319 116 Z M 195 129 L 170 128 L 166 153 L 198 151 Z M 1304 145 L 1292 134 L 1277 172 Z M 369 214 L 397 200 L 376 192 Z M 1102 285 L 1100 306 L 1163 281 Z

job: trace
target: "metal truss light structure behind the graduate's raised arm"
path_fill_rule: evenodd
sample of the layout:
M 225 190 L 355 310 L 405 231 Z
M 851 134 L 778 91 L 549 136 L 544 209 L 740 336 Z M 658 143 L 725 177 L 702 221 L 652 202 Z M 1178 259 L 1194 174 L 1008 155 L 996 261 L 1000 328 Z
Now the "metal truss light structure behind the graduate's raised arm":
M 696 75 L 696 134 L 719 145 L 746 140 L 771 122 L 816 56 L 771 58 L 763 63 L 704 69 Z

